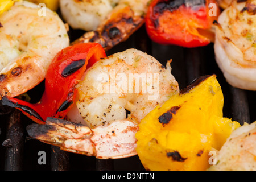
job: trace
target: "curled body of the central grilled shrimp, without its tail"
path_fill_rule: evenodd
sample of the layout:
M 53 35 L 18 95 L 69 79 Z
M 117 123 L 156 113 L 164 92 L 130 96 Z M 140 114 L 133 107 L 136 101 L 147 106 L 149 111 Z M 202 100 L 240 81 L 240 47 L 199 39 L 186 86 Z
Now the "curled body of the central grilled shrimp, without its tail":
M 90 128 L 126 119 L 127 113 L 127 119 L 139 123 L 156 105 L 179 93 L 170 61 L 165 68 L 137 49 L 115 53 L 94 64 L 76 88 L 79 100 L 68 119 Z

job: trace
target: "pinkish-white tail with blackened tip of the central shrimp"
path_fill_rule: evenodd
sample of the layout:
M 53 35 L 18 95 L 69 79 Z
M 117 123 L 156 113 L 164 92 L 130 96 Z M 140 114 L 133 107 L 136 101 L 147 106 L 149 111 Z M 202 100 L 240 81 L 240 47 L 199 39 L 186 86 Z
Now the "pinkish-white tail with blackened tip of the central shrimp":
M 27 126 L 28 135 L 33 139 L 100 159 L 136 155 L 136 131 L 138 126 L 130 120 L 114 121 L 94 129 L 56 118 L 47 118 L 46 125 Z

